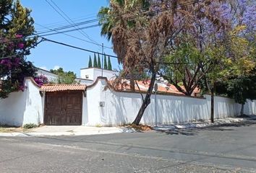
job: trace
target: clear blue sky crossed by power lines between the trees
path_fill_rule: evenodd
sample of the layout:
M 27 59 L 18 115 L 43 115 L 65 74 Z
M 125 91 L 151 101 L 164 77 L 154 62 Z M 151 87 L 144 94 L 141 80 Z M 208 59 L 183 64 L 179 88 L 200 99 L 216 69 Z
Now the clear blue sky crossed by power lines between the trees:
M 49 28 L 53 30 L 56 27 L 69 25 L 69 23 L 61 17 L 61 15 L 58 14 L 47 1 L 54 6 L 51 0 L 20 0 L 22 6 L 32 10 L 31 17 L 33 17 L 35 21 L 34 26 L 37 32 L 48 31 Z M 108 6 L 107 0 L 52 1 L 54 1 L 54 3 L 75 23 L 96 19 L 96 15 L 98 10 L 101 9 L 101 6 Z M 95 25 L 97 23 L 98 22 L 81 25 L 80 27 Z M 40 25 L 43 25 L 43 27 Z M 75 28 L 72 27 L 69 28 L 69 30 L 70 29 Z M 49 35 L 46 36 L 46 38 L 100 53 L 102 52 L 100 46 L 102 43 L 111 48 L 111 42 L 108 42 L 105 37 L 101 36 L 101 27 L 92 27 L 83 31 L 89 38 L 82 35 L 79 31 L 67 32 L 67 34 L 90 42 L 93 41 L 93 43 L 98 43 L 99 45 L 87 43 L 63 34 Z M 109 48 L 104 48 L 104 52 L 114 56 L 113 50 Z M 64 71 L 74 71 L 74 73 L 77 74 L 77 77 L 80 77 L 80 68 L 88 67 L 89 56 L 92 56 L 93 59 L 93 53 L 44 41 L 31 50 L 31 54 L 30 56 L 27 56 L 27 60 L 32 61 L 35 66 L 46 70 L 62 67 L 64 68 Z M 116 58 L 111 58 L 111 65 L 112 68 L 121 68 L 117 63 Z

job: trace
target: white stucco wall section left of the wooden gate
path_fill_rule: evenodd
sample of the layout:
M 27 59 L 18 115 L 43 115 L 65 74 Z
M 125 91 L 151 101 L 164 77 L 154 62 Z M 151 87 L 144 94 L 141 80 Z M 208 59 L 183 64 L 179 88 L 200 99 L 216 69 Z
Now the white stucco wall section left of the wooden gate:
M 24 92 L 13 92 L 0 99 L 0 124 L 22 126 L 43 123 L 43 97 L 31 79 L 25 79 Z

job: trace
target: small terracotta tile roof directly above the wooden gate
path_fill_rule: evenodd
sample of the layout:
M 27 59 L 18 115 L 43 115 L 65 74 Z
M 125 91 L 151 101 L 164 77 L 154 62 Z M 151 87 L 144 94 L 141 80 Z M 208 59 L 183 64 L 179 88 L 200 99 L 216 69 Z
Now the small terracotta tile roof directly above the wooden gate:
M 60 92 L 60 91 L 82 91 L 86 89 L 83 84 L 46 84 L 41 86 L 43 92 Z

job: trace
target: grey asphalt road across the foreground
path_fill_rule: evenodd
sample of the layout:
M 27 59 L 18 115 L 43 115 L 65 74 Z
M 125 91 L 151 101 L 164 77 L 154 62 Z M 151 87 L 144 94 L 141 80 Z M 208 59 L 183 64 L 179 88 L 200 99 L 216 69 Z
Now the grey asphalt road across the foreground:
M 255 123 L 171 133 L 0 137 L 0 172 L 256 172 Z

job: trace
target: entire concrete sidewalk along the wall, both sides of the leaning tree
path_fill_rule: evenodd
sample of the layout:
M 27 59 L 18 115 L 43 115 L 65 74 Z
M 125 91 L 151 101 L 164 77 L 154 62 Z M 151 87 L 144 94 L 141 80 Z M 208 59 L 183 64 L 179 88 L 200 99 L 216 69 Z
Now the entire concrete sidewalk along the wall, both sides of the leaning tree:
M 248 117 L 227 117 L 225 119 L 216 119 L 215 123 L 210 121 L 193 123 L 173 123 L 169 125 L 158 125 L 153 130 L 161 132 L 170 132 L 182 129 L 210 128 L 225 125 L 246 125 L 247 123 L 256 123 L 256 115 Z M 127 126 L 116 127 L 88 127 L 82 125 L 45 125 L 39 128 L 33 128 L 28 132 L 0 133 L 0 136 L 88 136 L 102 135 L 111 133 L 134 133 L 136 130 Z

